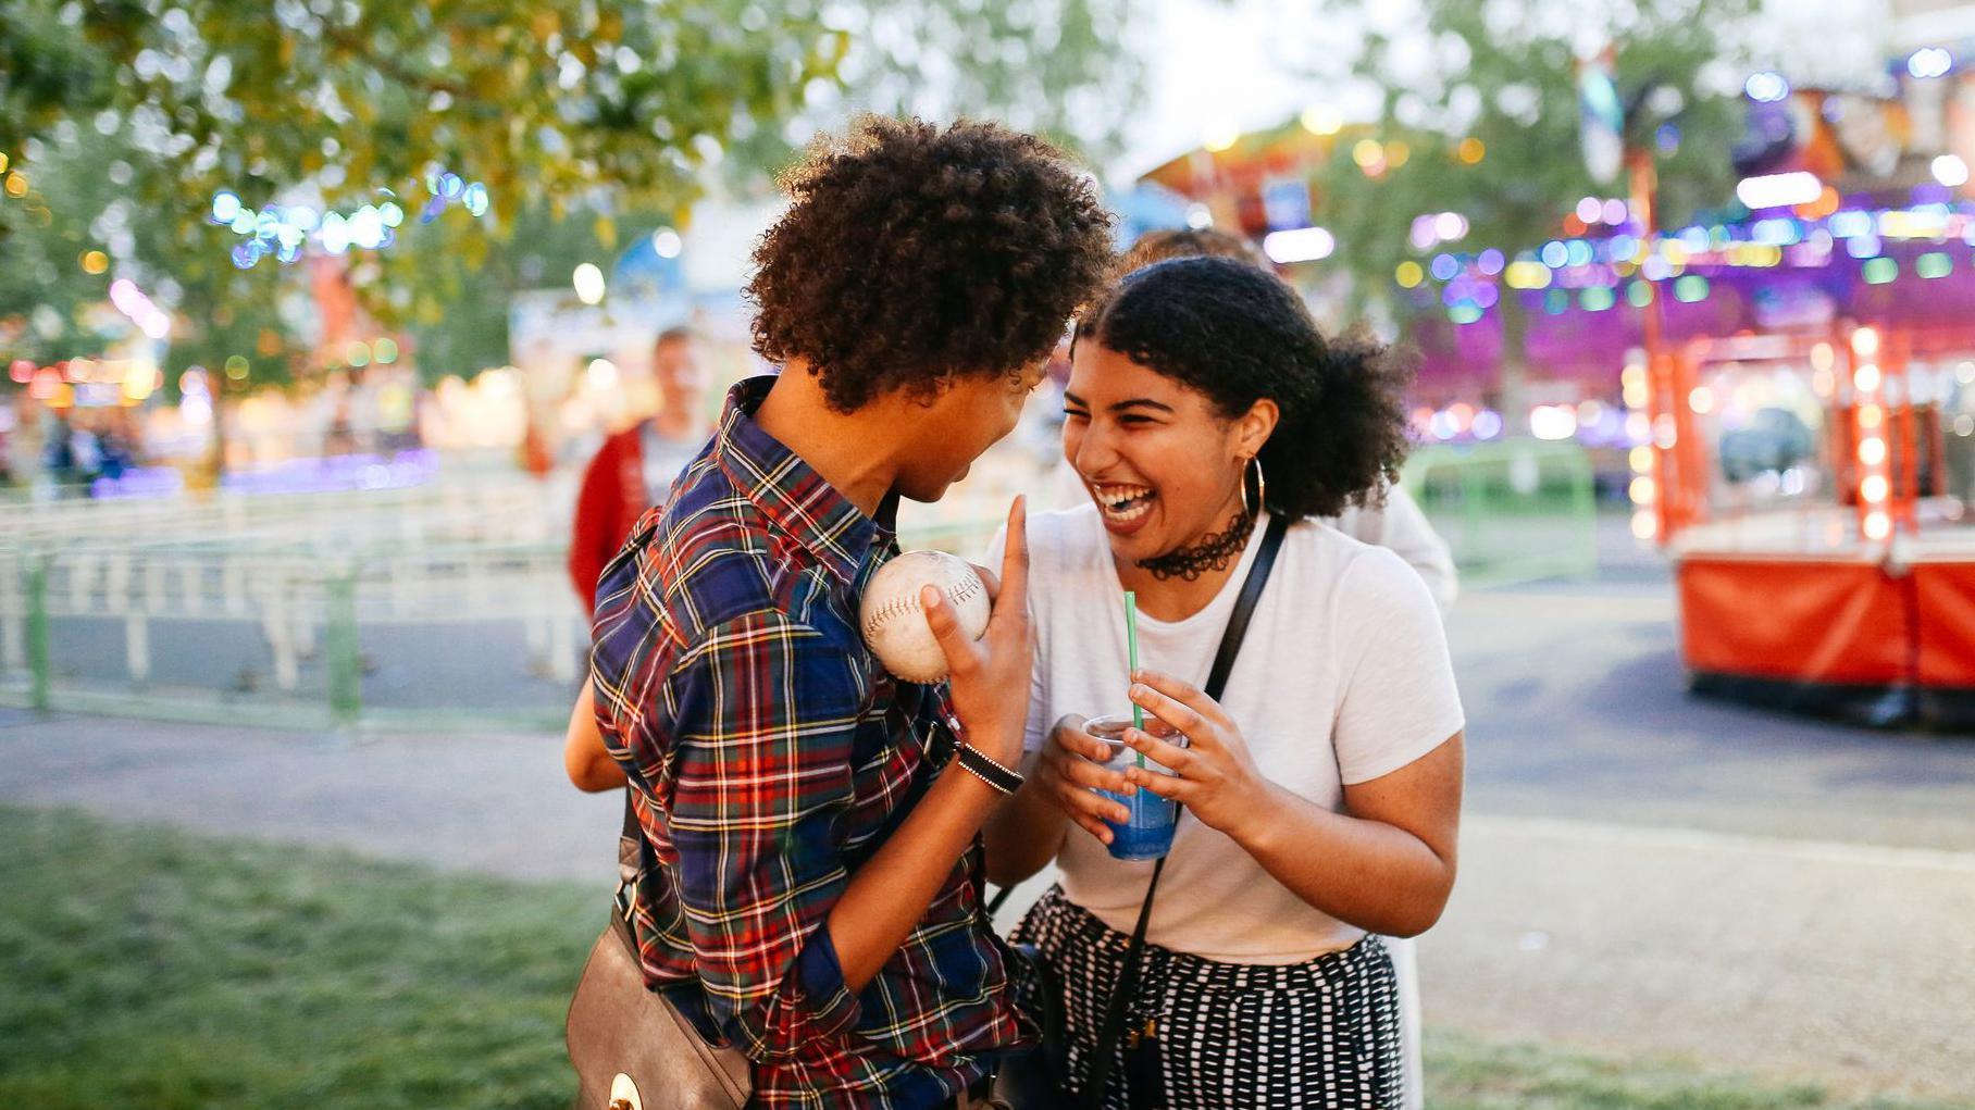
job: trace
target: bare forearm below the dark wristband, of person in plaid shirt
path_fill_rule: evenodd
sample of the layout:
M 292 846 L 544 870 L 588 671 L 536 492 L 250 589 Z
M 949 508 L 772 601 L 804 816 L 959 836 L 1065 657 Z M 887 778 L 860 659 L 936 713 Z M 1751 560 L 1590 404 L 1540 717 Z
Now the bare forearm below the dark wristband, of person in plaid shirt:
M 905 824 L 851 875 L 826 928 L 853 993 L 877 978 L 926 916 L 999 800 L 1001 794 L 974 774 L 948 766 Z

